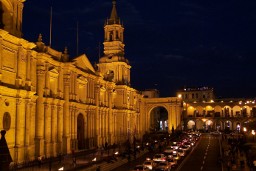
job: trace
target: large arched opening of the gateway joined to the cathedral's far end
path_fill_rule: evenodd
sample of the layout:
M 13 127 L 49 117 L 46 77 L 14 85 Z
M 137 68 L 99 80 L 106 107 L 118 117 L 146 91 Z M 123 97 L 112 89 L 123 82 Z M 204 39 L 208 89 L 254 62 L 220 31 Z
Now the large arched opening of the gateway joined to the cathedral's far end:
M 164 107 L 155 107 L 151 110 L 150 131 L 168 131 L 168 111 Z

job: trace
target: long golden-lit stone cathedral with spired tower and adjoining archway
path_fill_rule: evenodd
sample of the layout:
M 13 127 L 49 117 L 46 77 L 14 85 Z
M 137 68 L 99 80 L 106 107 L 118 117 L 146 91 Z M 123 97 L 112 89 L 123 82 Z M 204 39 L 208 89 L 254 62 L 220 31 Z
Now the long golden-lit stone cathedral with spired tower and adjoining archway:
M 0 128 L 15 163 L 140 139 L 159 105 L 168 124 L 180 126 L 178 98 L 146 99 L 130 86 L 115 1 L 95 67 L 85 54 L 71 58 L 67 48 L 45 45 L 42 35 L 35 43 L 22 39 L 23 2 L 0 2 Z

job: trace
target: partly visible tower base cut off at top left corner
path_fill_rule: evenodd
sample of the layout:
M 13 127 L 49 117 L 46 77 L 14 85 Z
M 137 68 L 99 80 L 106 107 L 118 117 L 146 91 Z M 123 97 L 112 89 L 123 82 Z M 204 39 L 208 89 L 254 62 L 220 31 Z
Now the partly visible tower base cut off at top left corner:
M 0 1 L 0 29 L 22 37 L 22 14 L 25 0 Z

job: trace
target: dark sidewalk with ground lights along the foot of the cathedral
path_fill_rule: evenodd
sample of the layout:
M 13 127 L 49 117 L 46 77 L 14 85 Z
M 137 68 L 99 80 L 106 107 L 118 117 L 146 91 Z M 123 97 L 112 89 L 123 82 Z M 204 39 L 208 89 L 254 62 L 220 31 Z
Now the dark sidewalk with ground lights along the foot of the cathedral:
M 137 158 L 144 155 L 148 151 L 145 149 L 144 151 L 140 151 L 137 154 Z M 128 162 L 125 157 L 117 157 L 113 158 L 114 155 L 113 150 L 104 150 L 103 152 L 100 150 L 88 150 L 86 155 L 76 154 L 75 162 L 72 155 L 65 155 L 62 157 L 61 162 L 58 158 L 54 158 L 52 160 L 45 160 L 39 165 L 38 162 L 33 162 L 30 166 L 23 168 L 16 168 L 10 170 L 18 170 L 18 171 L 58 171 L 58 170 L 83 170 L 83 171 L 96 171 L 97 167 L 100 166 L 101 171 L 109 171 L 116 167 L 121 166 Z M 95 161 L 96 159 L 96 161 Z

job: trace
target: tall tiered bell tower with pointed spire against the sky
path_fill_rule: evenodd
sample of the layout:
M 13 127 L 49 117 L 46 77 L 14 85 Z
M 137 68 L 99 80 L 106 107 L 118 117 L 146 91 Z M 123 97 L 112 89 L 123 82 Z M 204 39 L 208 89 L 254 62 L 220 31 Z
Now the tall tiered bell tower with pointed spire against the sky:
M 119 85 L 130 85 L 129 61 L 124 57 L 124 27 L 117 15 L 116 0 L 112 1 L 110 18 L 104 26 L 104 55 L 98 69 L 105 80 Z

